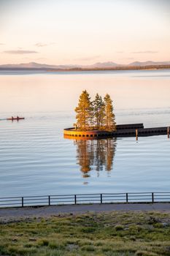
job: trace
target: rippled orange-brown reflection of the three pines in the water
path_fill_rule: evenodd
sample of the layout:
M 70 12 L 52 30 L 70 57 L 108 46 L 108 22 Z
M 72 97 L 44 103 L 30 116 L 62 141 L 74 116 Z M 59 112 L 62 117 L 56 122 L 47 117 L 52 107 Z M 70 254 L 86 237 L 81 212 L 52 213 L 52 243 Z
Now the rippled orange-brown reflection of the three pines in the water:
M 90 177 L 90 170 L 99 172 L 112 170 L 116 151 L 116 138 L 101 140 L 74 140 L 77 146 L 77 164 L 84 178 Z

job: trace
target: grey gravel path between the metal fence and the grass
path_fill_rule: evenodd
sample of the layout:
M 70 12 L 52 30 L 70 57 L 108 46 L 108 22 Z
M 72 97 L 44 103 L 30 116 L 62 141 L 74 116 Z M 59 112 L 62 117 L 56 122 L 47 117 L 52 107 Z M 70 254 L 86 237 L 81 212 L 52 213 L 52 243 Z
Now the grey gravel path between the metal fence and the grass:
M 71 206 L 42 206 L 24 208 L 0 208 L 0 221 L 10 219 L 50 217 L 58 214 L 79 214 L 102 211 L 170 211 L 170 203 L 115 203 Z

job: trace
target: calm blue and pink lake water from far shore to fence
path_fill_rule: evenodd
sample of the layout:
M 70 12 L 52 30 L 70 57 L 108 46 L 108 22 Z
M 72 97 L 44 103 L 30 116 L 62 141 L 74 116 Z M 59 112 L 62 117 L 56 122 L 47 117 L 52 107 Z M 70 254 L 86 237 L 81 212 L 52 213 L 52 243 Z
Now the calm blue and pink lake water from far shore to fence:
M 83 89 L 109 93 L 117 124 L 170 125 L 170 70 L 0 72 L 0 196 L 168 192 L 166 135 L 68 140 Z M 25 116 L 23 121 L 3 120 Z

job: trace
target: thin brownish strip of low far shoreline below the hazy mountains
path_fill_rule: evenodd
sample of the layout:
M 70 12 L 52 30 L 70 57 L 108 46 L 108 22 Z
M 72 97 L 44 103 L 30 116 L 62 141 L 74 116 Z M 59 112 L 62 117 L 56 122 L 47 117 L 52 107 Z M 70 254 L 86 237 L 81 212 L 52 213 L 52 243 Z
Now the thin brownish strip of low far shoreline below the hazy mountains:
M 46 71 L 46 72 L 70 72 L 70 71 L 118 71 L 118 70 L 158 70 L 158 69 L 170 69 L 170 65 L 151 65 L 151 66 L 134 66 L 134 67 L 108 67 L 108 68 L 68 68 L 68 69 L 53 69 L 53 68 L 36 68 L 36 67 L 0 67 L 0 70 L 28 70 L 28 71 Z

